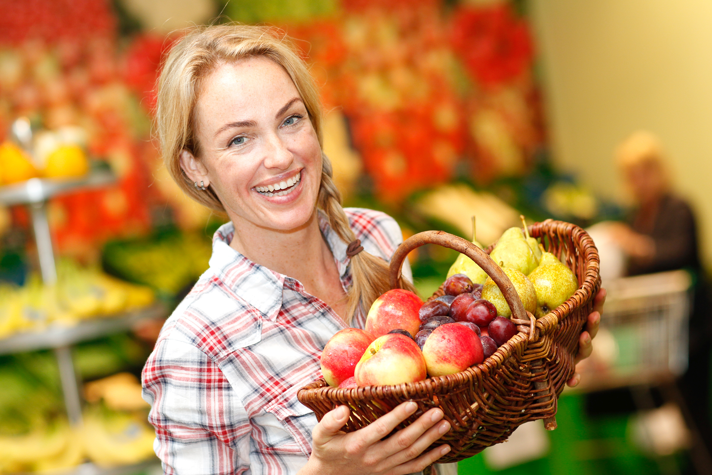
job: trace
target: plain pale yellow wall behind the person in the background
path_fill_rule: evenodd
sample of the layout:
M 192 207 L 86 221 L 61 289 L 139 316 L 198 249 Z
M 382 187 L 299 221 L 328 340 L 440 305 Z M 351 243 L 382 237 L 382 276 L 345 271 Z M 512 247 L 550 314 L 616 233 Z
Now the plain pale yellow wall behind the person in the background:
M 530 0 L 554 160 L 624 199 L 612 150 L 655 132 L 712 265 L 712 1 Z

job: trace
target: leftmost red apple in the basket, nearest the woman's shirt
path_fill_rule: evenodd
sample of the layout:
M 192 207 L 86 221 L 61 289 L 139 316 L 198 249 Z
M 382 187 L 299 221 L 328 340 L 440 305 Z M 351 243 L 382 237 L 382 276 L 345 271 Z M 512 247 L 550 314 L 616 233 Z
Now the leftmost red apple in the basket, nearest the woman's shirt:
M 330 338 L 321 352 L 321 374 L 330 386 L 338 386 L 354 375 L 357 362 L 375 340 L 360 328 L 345 328 Z

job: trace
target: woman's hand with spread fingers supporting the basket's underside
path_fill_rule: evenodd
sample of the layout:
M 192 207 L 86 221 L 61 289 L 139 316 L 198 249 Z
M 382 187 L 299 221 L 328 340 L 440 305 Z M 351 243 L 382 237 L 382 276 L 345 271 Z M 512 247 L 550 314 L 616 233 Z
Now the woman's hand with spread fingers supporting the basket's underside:
M 448 445 L 441 445 L 422 454 L 450 429 L 449 422 L 441 420 L 441 409 L 430 409 L 413 424 L 381 440 L 417 407 L 415 402 L 404 402 L 367 427 L 348 434 L 341 428 L 349 418 L 349 408 L 340 406 L 327 412 L 312 431 L 312 454 L 299 474 L 402 475 L 421 471 L 450 451 Z

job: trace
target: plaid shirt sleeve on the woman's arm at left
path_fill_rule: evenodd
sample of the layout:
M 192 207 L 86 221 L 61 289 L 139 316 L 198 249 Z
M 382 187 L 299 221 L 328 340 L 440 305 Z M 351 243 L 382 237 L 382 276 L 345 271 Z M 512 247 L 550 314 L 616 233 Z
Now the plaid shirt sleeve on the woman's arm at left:
M 165 474 L 249 474 L 250 423 L 219 367 L 187 342 L 159 340 L 142 374 Z

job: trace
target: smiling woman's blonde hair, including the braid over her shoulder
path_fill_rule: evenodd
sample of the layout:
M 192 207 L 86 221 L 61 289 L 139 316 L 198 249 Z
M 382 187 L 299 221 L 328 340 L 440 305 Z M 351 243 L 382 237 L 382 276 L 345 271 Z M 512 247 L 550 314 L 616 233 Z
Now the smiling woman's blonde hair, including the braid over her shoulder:
M 219 197 L 211 187 L 205 191 L 194 187 L 180 166 L 179 156 L 182 150 L 189 150 L 199 159 L 194 109 L 205 78 L 222 64 L 255 56 L 271 59 L 290 76 L 309 114 L 319 145 L 323 147 L 318 90 L 305 62 L 295 53 L 293 43 L 276 28 L 238 24 L 192 28 L 171 49 L 158 82 L 156 126 L 164 163 L 189 197 L 218 211 L 224 211 Z M 337 236 L 350 243 L 356 236 L 341 206 L 331 163 L 323 152 L 322 158 L 317 207 L 324 212 Z M 357 311 L 367 311 L 378 296 L 389 290 L 388 264 L 366 251 L 352 257 L 351 273 L 353 285 L 346 296 L 347 323 Z M 407 281 L 403 280 L 401 286 L 414 291 Z

